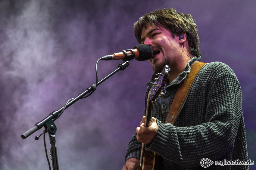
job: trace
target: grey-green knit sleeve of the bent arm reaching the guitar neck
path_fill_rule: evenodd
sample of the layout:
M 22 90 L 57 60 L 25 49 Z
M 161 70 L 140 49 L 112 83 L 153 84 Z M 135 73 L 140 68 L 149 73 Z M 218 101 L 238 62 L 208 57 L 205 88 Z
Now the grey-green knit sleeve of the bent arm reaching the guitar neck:
M 147 150 L 183 166 L 200 166 L 202 158 L 218 160 L 229 151 L 242 117 L 241 88 L 231 69 L 213 81 L 206 96 L 204 123 L 176 127 L 157 120 L 158 132 Z

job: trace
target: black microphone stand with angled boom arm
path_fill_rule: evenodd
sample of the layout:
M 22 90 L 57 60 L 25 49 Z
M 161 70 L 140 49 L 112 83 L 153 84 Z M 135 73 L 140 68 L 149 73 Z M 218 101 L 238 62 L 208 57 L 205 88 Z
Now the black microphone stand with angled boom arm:
M 102 82 L 104 82 L 106 79 L 108 79 L 109 77 L 111 77 L 112 75 L 114 75 L 115 73 L 117 73 L 120 70 L 124 70 L 126 67 L 128 67 L 130 64 L 130 61 L 124 61 L 123 63 L 119 64 L 118 68 L 116 70 L 114 70 L 112 73 L 110 73 L 108 76 L 106 76 L 105 78 L 103 78 L 101 81 L 98 82 L 97 86 L 100 85 Z M 21 135 L 22 139 L 26 139 L 28 136 L 32 135 L 34 132 L 36 132 L 37 130 L 41 129 L 42 127 L 45 127 L 45 129 L 47 130 L 48 134 L 49 134 L 49 138 L 50 138 L 50 144 L 52 146 L 51 150 L 50 150 L 50 156 L 52 157 L 52 168 L 53 170 L 59 170 L 59 166 L 58 166 L 58 156 L 57 156 L 57 148 L 55 147 L 55 133 L 57 131 L 57 127 L 54 124 L 52 119 L 55 119 L 58 117 L 59 113 L 61 113 L 61 111 L 63 111 L 63 109 L 67 109 L 69 106 L 71 106 L 72 104 L 74 104 L 77 100 L 81 99 L 83 96 L 85 96 L 86 94 L 96 90 L 96 85 L 91 85 L 89 88 L 86 89 L 86 91 L 84 91 L 83 93 L 81 93 L 80 95 L 78 95 L 77 97 L 75 97 L 73 100 L 71 100 L 70 102 L 68 102 L 65 105 L 62 106 L 60 109 L 58 109 L 57 111 L 53 111 L 52 113 L 50 113 L 46 118 L 44 118 L 43 120 L 37 122 L 32 128 L 30 128 L 29 130 L 27 130 L 27 132 L 23 133 Z M 39 136 L 37 136 L 38 138 Z M 35 138 L 36 139 L 36 138 Z M 37 140 L 37 139 L 36 139 Z

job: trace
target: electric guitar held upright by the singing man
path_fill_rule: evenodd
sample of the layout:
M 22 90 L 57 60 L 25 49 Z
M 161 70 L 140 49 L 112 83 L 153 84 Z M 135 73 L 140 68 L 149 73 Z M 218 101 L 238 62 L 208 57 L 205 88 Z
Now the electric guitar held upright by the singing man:
M 148 92 L 145 127 L 151 125 L 152 120 L 152 106 L 153 102 L 161 102 L 161 95 L 165 94 L 167 86 L 169 67 L 165 65 L 161 73 L 158 73 L 158 77 L 155 78 L 152 88 Z M 155 168 L 156 153 L 146 151 L 144 143 L 142 143 L 141 156 L 140 156 L 140 170 L 156 170 Z

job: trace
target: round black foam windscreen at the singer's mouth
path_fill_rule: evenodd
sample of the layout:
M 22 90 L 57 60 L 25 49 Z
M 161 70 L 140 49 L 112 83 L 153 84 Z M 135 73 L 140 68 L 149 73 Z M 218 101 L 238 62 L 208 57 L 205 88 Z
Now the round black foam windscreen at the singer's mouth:
M 133 47 L 133 49 L 138 49 L 139 51 L 139 58 L 135 58 L 138 61 L 145 61 L 152 57 L 153 50 L 149 45 L 146 44 L 139 44 Z

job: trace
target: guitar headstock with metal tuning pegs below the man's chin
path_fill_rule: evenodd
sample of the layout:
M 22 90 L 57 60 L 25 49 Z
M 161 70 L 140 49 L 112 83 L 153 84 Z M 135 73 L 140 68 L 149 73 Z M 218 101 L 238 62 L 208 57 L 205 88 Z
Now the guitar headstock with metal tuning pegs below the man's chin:
M 161 102 L 161 95 L 165 94 L 167 86 L 169 67 L 165 65 L 161 73 L 158 73 L 158 77 L 155 78 L 155 82 L 149 91 L 148 100 L 151 102 Z

